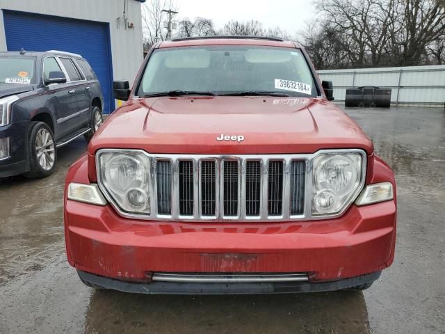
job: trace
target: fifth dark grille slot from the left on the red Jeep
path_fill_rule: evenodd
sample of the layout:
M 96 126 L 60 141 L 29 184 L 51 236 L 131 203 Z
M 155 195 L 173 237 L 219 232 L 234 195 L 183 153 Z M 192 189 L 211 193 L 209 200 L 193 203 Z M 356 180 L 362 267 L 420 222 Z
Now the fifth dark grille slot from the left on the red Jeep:
M 245 166 L 245 215 L 259 216 L 261 203 L 261 161 L 247 161 Z

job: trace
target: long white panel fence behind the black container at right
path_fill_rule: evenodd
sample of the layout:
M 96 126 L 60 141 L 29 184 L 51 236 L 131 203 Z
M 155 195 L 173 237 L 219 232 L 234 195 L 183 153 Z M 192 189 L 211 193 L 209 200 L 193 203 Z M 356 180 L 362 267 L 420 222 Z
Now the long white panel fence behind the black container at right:
M 391 104 L 445 104 L 445 65 L 321 70 L 318 75 L 332 81 L 335 100 L 340 102 L 347 88 L 379 86 L 391 88 Z

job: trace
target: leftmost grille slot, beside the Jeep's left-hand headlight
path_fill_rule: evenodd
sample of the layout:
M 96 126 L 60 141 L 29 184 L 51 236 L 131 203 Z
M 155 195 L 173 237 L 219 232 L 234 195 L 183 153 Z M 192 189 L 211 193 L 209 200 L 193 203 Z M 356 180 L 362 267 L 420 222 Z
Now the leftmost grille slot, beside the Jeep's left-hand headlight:
M 156 161 L 156 185 L 158 214 L 172 213 L 172 163 Z

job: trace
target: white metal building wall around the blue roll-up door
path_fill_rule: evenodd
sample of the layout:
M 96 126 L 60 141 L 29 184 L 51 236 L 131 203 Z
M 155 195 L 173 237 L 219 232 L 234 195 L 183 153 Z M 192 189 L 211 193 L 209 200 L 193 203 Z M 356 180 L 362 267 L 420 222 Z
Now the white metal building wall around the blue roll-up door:
M 118 17 L 124 12 L 127 1 L 128 22 L 134 28 L 118 29 Z M 143 61 L 143 35 L 141 3 L 135 0 L 0 0 L 0 8 L 38 13 L 73 19 L 87 19 L 110 24 L 111 54 L 113 78 L 128 79 L 131 84 Z M 3 12 L 0 10 L 0 51 L 7 51 L 3 24 Z

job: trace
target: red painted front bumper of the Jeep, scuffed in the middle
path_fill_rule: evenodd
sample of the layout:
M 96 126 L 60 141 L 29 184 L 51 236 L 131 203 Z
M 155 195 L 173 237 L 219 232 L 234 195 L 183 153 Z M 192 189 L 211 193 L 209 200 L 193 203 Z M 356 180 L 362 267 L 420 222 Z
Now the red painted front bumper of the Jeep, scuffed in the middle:
M 395 202 L 341 218 L 280 223 L 137 221 L 67 200 L 68 260 L 81 271 L 147 282 L 151 273 L 308 273 L 309 282 L 381 271 L 394 257 Z

